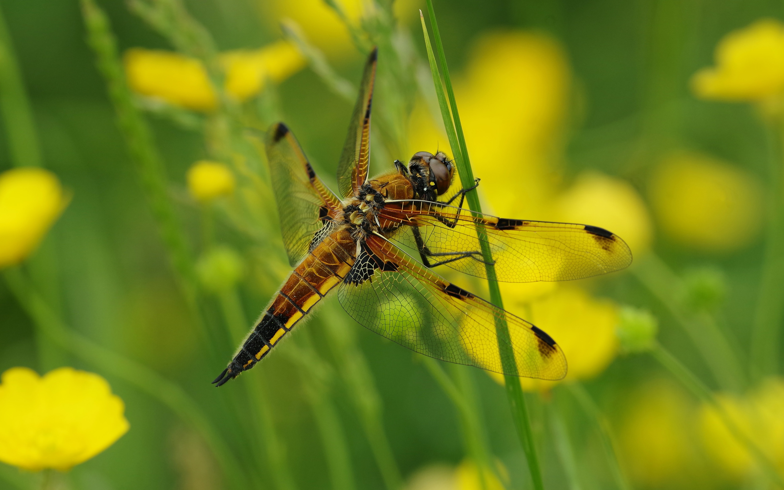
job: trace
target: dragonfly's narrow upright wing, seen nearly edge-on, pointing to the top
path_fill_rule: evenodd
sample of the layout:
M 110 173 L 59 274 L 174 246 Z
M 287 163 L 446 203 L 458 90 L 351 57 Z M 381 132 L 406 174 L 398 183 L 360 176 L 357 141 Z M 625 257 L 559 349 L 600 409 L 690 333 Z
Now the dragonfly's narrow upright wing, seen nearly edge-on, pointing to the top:
M 359 86 L 357 103 L 351 114 L 351 122 L 343 144 L 343 153 L 338 163 L 338 191 L 343 198 L 354 195 L 368 177 L 370 162 L 370 108 L 373 100 L 373 84 L 376 80 L 376 59 L 378 49 L 374 48 Z

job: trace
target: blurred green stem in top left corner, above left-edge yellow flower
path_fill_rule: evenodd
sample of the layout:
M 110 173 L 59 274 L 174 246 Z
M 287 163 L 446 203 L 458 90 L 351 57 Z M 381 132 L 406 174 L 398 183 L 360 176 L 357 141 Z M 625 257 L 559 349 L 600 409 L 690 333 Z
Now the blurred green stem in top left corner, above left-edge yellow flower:
M 0 115 L 8 134 L 11 162 L 17 167 L 41 166 L 38 132 L 11 34 L 0 9 Z

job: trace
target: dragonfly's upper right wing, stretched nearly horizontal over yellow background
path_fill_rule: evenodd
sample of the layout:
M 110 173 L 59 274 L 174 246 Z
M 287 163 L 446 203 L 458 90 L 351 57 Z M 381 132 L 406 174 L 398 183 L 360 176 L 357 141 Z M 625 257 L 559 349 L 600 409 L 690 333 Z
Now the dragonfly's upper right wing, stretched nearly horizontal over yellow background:
M 505 282 L 588 278 L 623 269 L 632 261 L 625 241 L 590 225 L 510 220 L 429 201 L 388 203 L 380 219 L 412 227 L 393 239 L 415 256 L 419 241 L 430 264 L 448 261 L 448 267 L 478 278 L 487 278 L 482 245 L 489 247 L 495 274 Z

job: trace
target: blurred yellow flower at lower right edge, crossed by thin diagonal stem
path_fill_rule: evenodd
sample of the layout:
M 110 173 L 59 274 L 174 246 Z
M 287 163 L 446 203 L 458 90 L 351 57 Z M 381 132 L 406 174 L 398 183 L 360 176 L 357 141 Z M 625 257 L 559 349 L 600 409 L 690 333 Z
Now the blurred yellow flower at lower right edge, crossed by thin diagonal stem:
M 784 471 L 784 381 L 768 379 L 746 397 L 717 396 L 735 427 Z M 735 481 L 753 470 L 755 461 L 724 424 L 716 408 L 702 405 L 699 426 L 706 451 L 717 466 Z

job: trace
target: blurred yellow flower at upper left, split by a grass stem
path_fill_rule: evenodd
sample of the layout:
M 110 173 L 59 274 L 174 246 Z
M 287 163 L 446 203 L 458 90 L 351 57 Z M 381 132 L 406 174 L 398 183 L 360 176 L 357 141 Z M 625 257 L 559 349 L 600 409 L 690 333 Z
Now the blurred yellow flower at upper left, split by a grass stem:
M 160 49 L 132 48 L 125 52 L 125 75 L 134 92 L 194 111 L 214 111 L 218 96 L 201 61 Z M 259 93 L 264 82 L 282 82 L 305 66 L 289 42 L 220 55 L 224 88 L 240 102 Z

